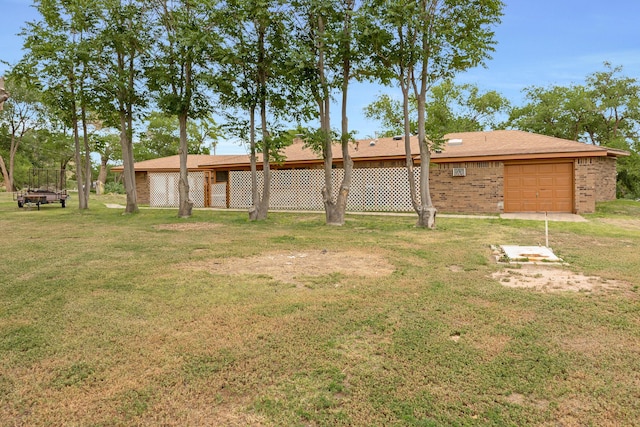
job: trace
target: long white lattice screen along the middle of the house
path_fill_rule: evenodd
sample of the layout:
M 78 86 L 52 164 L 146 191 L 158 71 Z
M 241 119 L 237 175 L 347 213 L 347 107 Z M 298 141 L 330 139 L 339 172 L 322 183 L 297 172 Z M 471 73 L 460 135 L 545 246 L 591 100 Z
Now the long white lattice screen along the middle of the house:
M 343 170 L 333 171 L 334 197 L 342 181 Z M 416 188 L 420 189 L 420 168 L 414 171 Z M 324 170 L 271 171 L 270 209 L 323 210 L 320 191 L 324 186 Z M 262 174 L 258 173 L 258 187 L 262 191 Z M 231 208 L 244 209 L 251 205 L 251 172 L 232 171 L 230 176 Z M 406 168 L 354 169 L 347 201 L 350 211 L 411 211 Z

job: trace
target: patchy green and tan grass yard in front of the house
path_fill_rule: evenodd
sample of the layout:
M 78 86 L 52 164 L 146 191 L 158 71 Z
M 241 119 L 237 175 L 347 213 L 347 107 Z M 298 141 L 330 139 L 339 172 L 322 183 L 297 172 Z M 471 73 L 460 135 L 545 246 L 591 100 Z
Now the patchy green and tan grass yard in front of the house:
M 514 289 L 544 223 L 18 209 L 0 193 L 0 425 L 633 425 L 640 203 L 549 223 L 589 291 Z M 508 279 L 503 279 L 508 280 Z

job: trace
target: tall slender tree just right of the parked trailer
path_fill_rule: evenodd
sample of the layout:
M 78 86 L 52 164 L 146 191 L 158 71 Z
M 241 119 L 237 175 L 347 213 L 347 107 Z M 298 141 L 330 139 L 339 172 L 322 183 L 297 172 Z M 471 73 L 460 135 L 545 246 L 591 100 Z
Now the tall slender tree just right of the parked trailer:
M 88 209 L 91 153 L 86 120 L 90 108 L 87 93 L 97 68 L 92 61 L 95 29 L 101 13 L 97 0 L 82 4 L 40 0 L 36 7 L 42 20 L 27 23 L 22 33 L 26 36 L 27 54 L 16 67 L 16 74 L 23 81 L 42 81 L 43 103 L 73 129 L 78 203 L 80 209 Z

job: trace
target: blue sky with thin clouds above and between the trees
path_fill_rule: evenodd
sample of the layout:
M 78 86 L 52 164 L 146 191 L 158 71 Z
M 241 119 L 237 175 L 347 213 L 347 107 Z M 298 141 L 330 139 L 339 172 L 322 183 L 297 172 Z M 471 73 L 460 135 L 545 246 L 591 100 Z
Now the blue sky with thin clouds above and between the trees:
M 0 75 L 22 57 L 17 34 L 25 22 L 37 20 L 31 0 L 0 0 Z M 495 27 L 497 45 L 485 67 L 460 74 L 459 83 L 495 90 L 514 105 L 522 105 L 522 90 L 530 86 L 568 86 L 604 70 L 603 63 L 622 66 L 627 77 L 640 79 L 639 0 L 505 0 L 502 22 Z M 363 109 L 380 94 L 399 96 L 394 88 L 371 83 L 352 84 L 350 128 L 369 138 L 379 123 L 364 117 Z M 339 106 L 333 107 L 332 126 L 340 127 Z M 221 141 L 217 154 L 246 150 Z

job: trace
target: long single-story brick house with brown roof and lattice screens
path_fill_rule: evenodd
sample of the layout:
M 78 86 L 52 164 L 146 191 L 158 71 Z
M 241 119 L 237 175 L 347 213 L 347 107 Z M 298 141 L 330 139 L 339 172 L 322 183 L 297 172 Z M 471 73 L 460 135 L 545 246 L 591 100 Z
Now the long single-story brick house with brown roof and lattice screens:
M 616 198 L 616 159 L 628 155 L 516 130 L 451 133 L 446 138 L 441 150 L 432 153 L 429 170 L 432 201 L 442 212 L 594 212 L 596 202 Z M 417 138 L 411 143 L 419 184 Z M 321 157 L 302 141 L 281 153 L 283 163 L 272 164 L 270 208 L 322 210 Z M 360 140 L 351 144 L 350 154 L 354 169 L 348 210 L 412 210 L 403 138 Z M 336 191 L 343 173 L 341 155 L 336 144 Z M 179 170 L 178 156 L 136 163 L 138 202 L 177 206 Z M 190 155 L 188 170 L 195 206 L 251 205 L 248 155 Z

